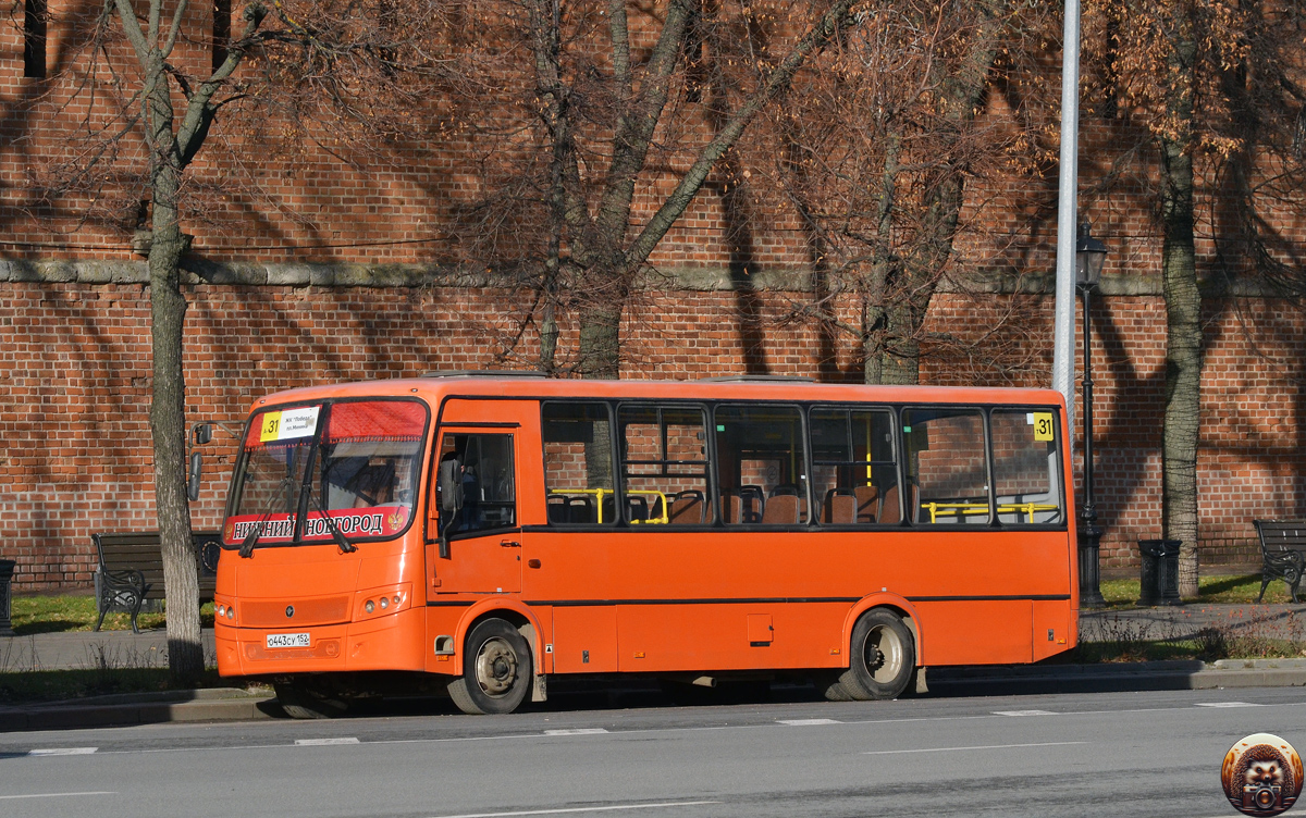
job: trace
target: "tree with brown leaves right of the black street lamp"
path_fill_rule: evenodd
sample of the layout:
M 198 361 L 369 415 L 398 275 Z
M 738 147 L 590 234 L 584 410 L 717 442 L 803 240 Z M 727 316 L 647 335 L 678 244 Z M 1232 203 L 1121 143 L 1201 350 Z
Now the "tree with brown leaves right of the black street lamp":
M 1195 168 L 1200 162 L 1220 167 L 1246 146 L 1234 127 L 1234 98 L 1222 86 L 1228 72 L 1249 56 L 1252 16 L 1218 0 L 1104 0 L 1093 12 L 1105 33 L 1087 50 L 1100 93 L 1106 104 L 1143 125 L 1158 158 L 1155 196 L 1166 308 L 1162 532 L 1182 540 L 1179 592 L 1192 598 L 1205 350 L 1195 215 L 1203 179 Z

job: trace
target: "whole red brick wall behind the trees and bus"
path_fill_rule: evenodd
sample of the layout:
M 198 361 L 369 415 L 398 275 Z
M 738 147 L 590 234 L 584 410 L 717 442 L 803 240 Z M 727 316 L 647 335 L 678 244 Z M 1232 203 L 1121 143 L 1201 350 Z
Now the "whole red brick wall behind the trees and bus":
M 81 78 L 60 80 L 55 70 L 71 59 L 69 33 L 86 25 L 74 18 L 77 9 L 95 9 L 71 0 L 51 0 L 50 9 L 50 80 L 21 76 L 21 14 L 0 25 L 0 524 L 9 535 L 0 554 L 20 561 L 18 590 L 89 583 L 88 535 L 148 527 L 153 515 L 149 304 L 141 262 L 131 261 L 141 145 L 124 144 L 121 181 L 95 202 L 35 194 L 35 180 L 74 151 L 76 124 L 103 114 L 80 102 L 65 107 Z M 199 34 L 178 63 L 202 67 L 212 5 L 191 9 L 188 31 Z M 124 53 L 112 51 L 116 64 Z M 1049 77 L 1054 69 L 1049 63 Z M 991 95 L 986 116 L 1010 116 L 1003 99 Z M 538 254 L 538 224 L 530 214 L 509 214 L 521 219 L 509 236 L 516 247 L 509 239 L 477 244 L 475 205 L 515 157 L 427 119 L 389 146 L 384 163 L 363 167 L 336 160 L 311 140 L 287 144 L 276 117 L 219 120 L 187 188 L 185 230 L 195 234 L 188 264 L 197 274 L 188 287 L 189 419 L 235 424 L 253 397 L 289 386 L 520 367 L 538 355 L 533 330 L 518 334 L 528 299 L 481 274 L 496 261 Z M 677 138 L 661 134 L 657 170 L 636 196 L 636 220 L 648 218 L 670 189 L 671 171 L 710 136 L 704 121 L 677 128 Z M 1124 117 L 1085 116 L 1081 132 L 1081 215 L 1111 247 L 1093 324 L 1098 514 L 1111 568 L 1130 564 L 1136 539 L 1160 536 L 1165 311 L 1156 160 L 1145 129 Z M 1038 149 L 1054 155 L 1047 142 Z M 852 337 L 786 320 L 811 299 L 811 253 L 801 219 L 767 181 L 771 147 L 742 144 L 738 162 L 755 171 L 752 181 L 709 177 L 658 247 L 657 269 L 623 325 L 623 377 L 859 380 Z M 1199 271 L 1237 273 L 1229 260 L 1239 245 L 1225 235 L 1218 184 L 1198 184 Z M 922 382 L 1047 384 L 1055 185 L 1054 167 L 968 183 L 952 271 L 996 283 L 977 297 L 949 286 L 934 299 Z M 1276 247 L 1299 257 L 1301 202 L 1259 201 L 1258 213 L 1280 237 Z M 363 264 L 371 266 L 357 266 Z M 746 283 L 731 288 L 731 278 Z M 836 308 L 846 324 L 858 324 L 850 304 Z M 1306 514 L 1306 318 L 1254 294 L 1211 297 L 1205 309 L 1203 558 L 1246 560 L 1252 518 Z M 575 326 L 564 320 L 563 363 L 575 347 Z M 217 523 L 231 440 L 219 433 L 208 449 L 197 526 Z

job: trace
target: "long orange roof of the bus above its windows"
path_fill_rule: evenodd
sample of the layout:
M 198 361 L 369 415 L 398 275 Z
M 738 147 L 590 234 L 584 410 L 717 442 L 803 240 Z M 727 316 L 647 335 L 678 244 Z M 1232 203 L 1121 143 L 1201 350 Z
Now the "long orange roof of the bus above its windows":
M 999 386 L 875 386 L 820 384 L 797 378 L 738 380 L 560 380 L 535 373 L 434 373 L 430 377 L 353 381 L 278 391 L 253 402 L 251 411 L 332 398 L 418 397 L 432 407 L 447 397 L 486 398 L 627 398 L 648 401 L 819 401 L 831 403 L 981 403 L 1064 407 L 1053 389 Z

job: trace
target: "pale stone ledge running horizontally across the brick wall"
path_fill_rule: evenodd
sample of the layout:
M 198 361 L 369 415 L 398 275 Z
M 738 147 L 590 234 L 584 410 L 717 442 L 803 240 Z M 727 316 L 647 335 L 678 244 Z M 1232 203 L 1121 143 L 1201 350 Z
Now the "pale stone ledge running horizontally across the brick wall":
M 807 292 L 812 288 L 810 270 L 759 270 L 734 275 L 721 267 L 657 267 L 644 274 L 649 290 L 679 291 L 761 291 Z M 508 271 L 469 271 L 423 264 L 257 264 L 215 262 L 189 257 L 183 264 L 185 284 L 244 284 L 266 287 L 513 287 L 521 282 Z M 124 260 L 5 260 L 0 258 L 0 283 L 80 283 L 80 284 L 148 284 L 145 261 Z M 1252 280 L 1207 279 L 1203 295 L 1241 297 L 1275 297 L 1276 294 Z M 1050 273 L 1016 275 L 1010 273 L 981 274 L 959 283 L 946 279 L 940 292 L 976 292 L 998 295 L 1053 295 L 1055 277 Z M 1161 296 L 1160 275 L 1104 274 L 1098 292 L 1106 296 Z

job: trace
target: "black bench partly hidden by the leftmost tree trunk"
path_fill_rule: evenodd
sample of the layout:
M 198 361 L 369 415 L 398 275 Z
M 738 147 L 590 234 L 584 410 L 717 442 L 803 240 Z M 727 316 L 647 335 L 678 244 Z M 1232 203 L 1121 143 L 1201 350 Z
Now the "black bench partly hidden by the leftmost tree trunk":
M 222 553 L 217 531 L 196 531 L 195 568 L 200 581 L 200 603 L 212 601 Z M 132 631 L 141 633 L 136 617 L 148 600 L 163 599 L 163 544 L 158 531 L 125 531 L 93 534 L 99 566 L 95 569 L 95 605 L 99 618 L 95 630 L 110 611 L 132 614 Z

